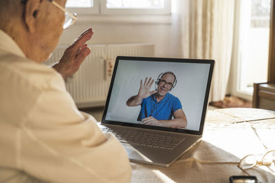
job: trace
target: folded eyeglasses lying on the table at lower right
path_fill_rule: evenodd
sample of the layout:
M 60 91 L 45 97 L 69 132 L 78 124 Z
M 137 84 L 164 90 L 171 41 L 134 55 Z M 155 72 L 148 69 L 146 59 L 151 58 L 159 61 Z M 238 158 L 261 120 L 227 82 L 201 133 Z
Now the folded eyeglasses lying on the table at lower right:
M 261 161 L 257 161 L 256 156 L 254 154 L 250 154 L 245 156 L 243 159 L 240 160 L 238 167 L 246 174 L 250 175 L 246 169 L 251 169 L 256 165 L 264 165 L 268 167 L 271 171 L 275 172 L 275 150 L 268 151 L 262 158 Z

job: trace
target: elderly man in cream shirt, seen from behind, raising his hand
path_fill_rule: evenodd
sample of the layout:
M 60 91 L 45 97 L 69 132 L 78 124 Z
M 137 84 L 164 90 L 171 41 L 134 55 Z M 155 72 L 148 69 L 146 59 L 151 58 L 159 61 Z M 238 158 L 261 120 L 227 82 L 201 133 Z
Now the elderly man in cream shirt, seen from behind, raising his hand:
M 54 69 L 65 0 L 0 1 L 0 182 L 129 182 L 122 145 L 80 112 L 63 78 L 90 49 L 87 29 Z M 58 73 L 58 72 L 59 73 Z

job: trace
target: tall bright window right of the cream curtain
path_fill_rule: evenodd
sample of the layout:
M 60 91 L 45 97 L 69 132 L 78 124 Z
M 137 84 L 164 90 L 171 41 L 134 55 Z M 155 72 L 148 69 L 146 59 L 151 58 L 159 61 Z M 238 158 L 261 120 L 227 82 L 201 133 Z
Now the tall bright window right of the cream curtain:
M 253 94 L 253 83 L 267 82 L 271 0 L 239 1 L 239 40 L 236 93 L 246 99 Z M 238 95 L 237 95 L 238 96 Z M 248 97 L 250 96 L 250 97 Z

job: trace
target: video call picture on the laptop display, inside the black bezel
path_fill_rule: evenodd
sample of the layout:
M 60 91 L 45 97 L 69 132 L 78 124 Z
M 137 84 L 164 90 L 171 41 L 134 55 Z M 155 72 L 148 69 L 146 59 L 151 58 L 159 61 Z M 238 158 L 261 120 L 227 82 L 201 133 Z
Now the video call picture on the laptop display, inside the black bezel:
M 183 113 L 187 125 L 181 120 L 165 127 L 199 131 L 209 71 L 209 63 L 119 60 L 106 120 L 142 124 L 151 117 L 144 125 L 161 126 L 157 121 L 169 122 Z M 146 81 L 146 90 L 141 80 L 142 86 Z M 142 103 L 127 105 L 140 90 L 147 93 Z

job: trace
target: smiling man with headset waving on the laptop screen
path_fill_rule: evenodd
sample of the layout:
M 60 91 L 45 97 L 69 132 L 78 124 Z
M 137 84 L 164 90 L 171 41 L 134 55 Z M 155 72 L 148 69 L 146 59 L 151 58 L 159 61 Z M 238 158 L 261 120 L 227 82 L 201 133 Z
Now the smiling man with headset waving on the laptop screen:
M 182 110 L 181 102 L 169 91 L 177 84 L 173 72 L 161 73 L 157 78 L 157 89 L 150 91 L 154 80 L 145 78 L 144 83 L 140 80 L 140 90 L 137 95 L 130 97 L 126 105 L 133 107 L 141 105 L 137 121 L 144 125 L 157 125 L 162 127 L 182 128 L 187 126 L 187 119 Z M 174 119 L 172 119 L 174 117 Z

